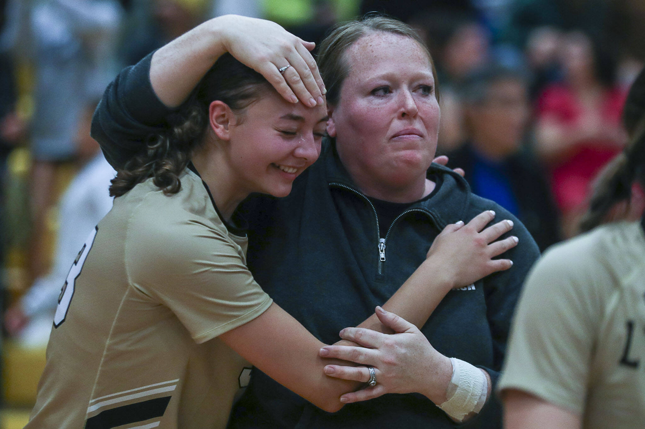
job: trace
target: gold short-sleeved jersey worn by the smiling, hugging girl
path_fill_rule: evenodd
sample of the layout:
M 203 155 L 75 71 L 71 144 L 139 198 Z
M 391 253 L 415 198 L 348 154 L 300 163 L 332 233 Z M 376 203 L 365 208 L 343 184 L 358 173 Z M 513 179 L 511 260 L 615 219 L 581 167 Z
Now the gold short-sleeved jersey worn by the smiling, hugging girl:
M 245 361 L 215 337 L 272 303 L 246 244 L 188 169 L 177 194 L 116 198 L 61 291 L 26 428 L 223 428 Z

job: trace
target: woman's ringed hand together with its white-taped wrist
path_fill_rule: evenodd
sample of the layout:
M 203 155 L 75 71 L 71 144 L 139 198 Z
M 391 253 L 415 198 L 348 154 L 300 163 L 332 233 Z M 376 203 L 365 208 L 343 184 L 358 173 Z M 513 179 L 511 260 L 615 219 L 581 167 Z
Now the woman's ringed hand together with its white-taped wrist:
M 370 379 L 369 367 L 375 372 L 377 385 L 348 392 L 341 396 L 341 401 L 352 403 L 386 393 L 418 392 L 441 406 L 448 417 L 458 423 L 477 415 L 491 394 L 488 372 L 464 361 L 448 359 L 432 347 L 415 325 L 394 313 L 377 307 L 376 314 L 395 334 L 346 328 L 341 331 L 341 337 L 358 346 L 328 345 L 321 349 L 321 356 L 344 360 L 340 364 L 326 365 L 324 372 L 329 376 L 366 382 Z M 346 366 L 346 361 L 363 366 Z M 456 376 L 453 375 L 453 363 L 459 365 Z M 481 383 L 473 384 L 479 372 Z M 468 373 L 470 376 L 466 375 Z M 451 385 L 453 390 L 449 388 Z M 457 394 L 460 388 L 461 394 Z

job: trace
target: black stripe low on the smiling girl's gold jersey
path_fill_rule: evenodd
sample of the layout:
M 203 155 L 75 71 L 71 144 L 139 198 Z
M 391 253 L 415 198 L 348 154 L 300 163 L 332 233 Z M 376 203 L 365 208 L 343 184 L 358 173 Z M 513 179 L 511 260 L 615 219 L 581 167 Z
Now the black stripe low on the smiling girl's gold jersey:
M 102 411 L 87 419 L 85 429 L 110 429 L 123 424 L 161 417 L 169 402 L 170 396 L 164 396 L 110 408 L 110 410 Z

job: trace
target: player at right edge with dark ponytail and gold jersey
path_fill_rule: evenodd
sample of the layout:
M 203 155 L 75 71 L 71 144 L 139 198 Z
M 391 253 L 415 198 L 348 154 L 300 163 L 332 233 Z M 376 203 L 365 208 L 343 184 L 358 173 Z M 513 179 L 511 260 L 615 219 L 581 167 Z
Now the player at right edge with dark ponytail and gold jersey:
M 595 228 L 548 250 L 526 282 L 500 383 L 505 427 L 640 428 L 645 421 L 645 218 L 600 226 L 629 202 L 634 184 L 645 187 L 645 71 L 623 122 L 630 143 L 583 224 Z

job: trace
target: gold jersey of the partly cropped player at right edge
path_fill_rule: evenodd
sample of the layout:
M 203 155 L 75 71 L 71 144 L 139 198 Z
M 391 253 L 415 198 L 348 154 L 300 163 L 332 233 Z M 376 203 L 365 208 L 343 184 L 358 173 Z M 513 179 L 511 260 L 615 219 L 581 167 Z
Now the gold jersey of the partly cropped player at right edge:
M 645 424 L 645 235 L 601 226 L 554 246 L 515 313 L 498 389 L 582 416 L 584 428 Z

